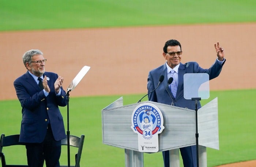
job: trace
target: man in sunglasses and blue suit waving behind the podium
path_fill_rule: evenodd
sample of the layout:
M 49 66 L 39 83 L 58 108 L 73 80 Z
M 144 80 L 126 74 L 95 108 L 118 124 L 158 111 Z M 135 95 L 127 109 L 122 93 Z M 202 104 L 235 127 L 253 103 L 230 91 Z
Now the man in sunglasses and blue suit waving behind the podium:
M 148 100 L 163 104 L 169 104 L 182 108 L 195 110 L 195 102 L 184 98 L 183 75 L 185 73 L 208 73 L 209 79 L 219 76 L 222 66 L 225 63 L 224 49 L 219 46 L 219 42 L 215 45 L 217 59 L 214 64 L 203 69 L 196 62 L 181 63 L 181 44 L 177 40 L 168 40 L 163 47 L 163 57 L 166 63 L 158 68 L 151 70 L 148 74 L 147 89 L 148 92 L 153 91 L 159 83 L 159 76 L 163 75 L 162 84 L 154 92 L 148 95 Z M 166 90 L 167 80 L 173 77 L 173 82 L 169 89 Z M 198 108 L 200 108 L 200 103 Z M 188 146 L 180 148 L 184 167 L 196 167 L 196 146 Z M 164 166 L 169 167 L 169 151 L 163 151 Z

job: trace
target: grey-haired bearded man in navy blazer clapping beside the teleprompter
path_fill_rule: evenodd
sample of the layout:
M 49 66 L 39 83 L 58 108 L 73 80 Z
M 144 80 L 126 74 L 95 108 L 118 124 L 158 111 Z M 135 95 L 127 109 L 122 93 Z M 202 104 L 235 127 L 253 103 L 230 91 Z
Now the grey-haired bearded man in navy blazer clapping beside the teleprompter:
M 46 59 L 37 49 L 23 57 L 27 72 L 14 81 L 22 106 L 19 142 L 26 143 L 29 167 L 59 167 L 61 139 L 66 137 L 59 106 L 66 106 L 63 77 L 45 72 Z

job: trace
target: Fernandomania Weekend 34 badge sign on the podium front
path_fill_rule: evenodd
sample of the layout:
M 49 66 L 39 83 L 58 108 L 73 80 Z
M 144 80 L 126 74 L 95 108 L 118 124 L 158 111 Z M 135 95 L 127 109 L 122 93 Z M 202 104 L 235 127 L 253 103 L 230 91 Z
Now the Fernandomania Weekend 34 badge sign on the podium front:
M 151 103 L 138 105 L 132 113 L 132 130 L 138 134 L 140 152 L 157 152 L 158 134 L 163 129 L 163 116 L 159 108 Z

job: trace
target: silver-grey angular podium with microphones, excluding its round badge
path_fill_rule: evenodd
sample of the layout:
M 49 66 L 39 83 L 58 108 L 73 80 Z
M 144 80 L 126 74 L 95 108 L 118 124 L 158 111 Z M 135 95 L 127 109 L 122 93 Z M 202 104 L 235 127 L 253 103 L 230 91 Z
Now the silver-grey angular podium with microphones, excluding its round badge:
M 195 111 L 151 101 L 123 106 L 123 97 L 102 109 L 103 144 L 125 149 L 126 167 L 143 167 L 143 152 L 138 151 L 138 135 L 131 129 L 133 110 L 142 103 L 154 104 L 161 110 L 163 126 L 158 135 L 159 151 L 170 150 L 170 165 L 179 167 L 178 148 L 196 145 Z M 206 147 L 219 150 L 218 98 L 197 112 L 199 133 L 199 166 L 207 167 Z

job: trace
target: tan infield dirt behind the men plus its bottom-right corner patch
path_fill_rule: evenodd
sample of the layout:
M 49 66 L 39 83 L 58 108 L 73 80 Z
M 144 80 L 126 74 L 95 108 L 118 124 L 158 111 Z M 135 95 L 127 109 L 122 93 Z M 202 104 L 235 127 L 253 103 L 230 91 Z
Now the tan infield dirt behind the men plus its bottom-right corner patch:
M 256 23 L 176 25 L 137 28 L 67 29 L 0 32 L 0 100 L 16 99 L 13 81 L 26 72 L 22 55 L 40 49 L 46 71 L 65 78 L 64 89 L 84 66 L 91 69 L 71 96 L 145 94 L 148 72 L 165 63 L 165 41 L 182 45 L 182 63 L 214 63 L 214 43 L 225 48 L 221 75 L 210 81 L 211 90 L 256 88 Z M 9 68 L 10 67 L 10 68 Z M 255 161 L 223 167 L 252 167 Z

